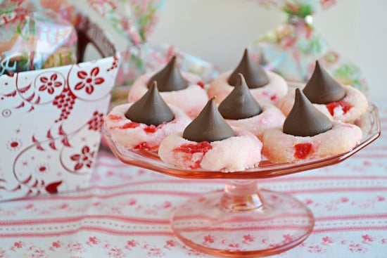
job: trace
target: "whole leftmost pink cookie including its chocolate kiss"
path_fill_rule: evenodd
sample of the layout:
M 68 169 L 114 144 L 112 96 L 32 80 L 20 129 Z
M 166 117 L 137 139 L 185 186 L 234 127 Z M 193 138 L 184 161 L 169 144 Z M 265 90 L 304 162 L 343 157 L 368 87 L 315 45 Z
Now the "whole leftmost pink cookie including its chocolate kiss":
M 153 100 L 155 96 L 157 101 Z M 153 86 L 139 101 L 113 108 L 106 116 L 105 127 L 112 140 L 125 148 L 157 151 L 165 136 L 184 131 L 190 122 L 182 110 L 163 103 L 157 86 Z

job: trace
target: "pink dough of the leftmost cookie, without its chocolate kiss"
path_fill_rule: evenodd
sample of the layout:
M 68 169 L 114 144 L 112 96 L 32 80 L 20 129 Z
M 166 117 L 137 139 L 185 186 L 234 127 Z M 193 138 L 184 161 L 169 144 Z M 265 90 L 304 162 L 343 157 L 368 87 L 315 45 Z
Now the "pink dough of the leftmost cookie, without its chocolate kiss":
M 125 117 L 125 112 L 132 104 L 126 103 L 116 106 L 108 113 L 105 120 L 105 127 L 108 129 L 110 137 L 125 148 L 132 149 L 140 143 L 146 143 L 151 147 L 151 150 L 157 151 L 163 138 L 184 131 L 184 128 L 191 122 L 191 119 L 182 110 L 169 105 L 175 114 L 175 120 L 160 125 L 153 133 L 144 131 L 148 126 L 141 123 L 135 128 L 122 128 L 125 124 L 132 122 Z

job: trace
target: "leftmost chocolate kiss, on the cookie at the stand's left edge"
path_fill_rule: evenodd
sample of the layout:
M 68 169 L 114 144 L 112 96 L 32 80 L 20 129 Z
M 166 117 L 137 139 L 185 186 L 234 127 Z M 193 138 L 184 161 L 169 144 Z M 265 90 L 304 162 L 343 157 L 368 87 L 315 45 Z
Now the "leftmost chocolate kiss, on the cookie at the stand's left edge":
M 133 122 L 156 126 L 175 119 L 174 113 L 158 92 L 157 82 L 153 82 L 144 96 L 128 108 L 125 117 Z

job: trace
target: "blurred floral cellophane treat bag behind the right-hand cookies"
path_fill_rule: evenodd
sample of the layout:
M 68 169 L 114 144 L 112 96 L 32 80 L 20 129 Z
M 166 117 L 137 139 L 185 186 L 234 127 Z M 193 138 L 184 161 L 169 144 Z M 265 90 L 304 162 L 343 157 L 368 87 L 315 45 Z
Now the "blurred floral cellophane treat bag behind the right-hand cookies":
M 277 8 L 287 15 L 279 26 L 253 40 L 250 44 L 255 58 L 268 70 L 285 79 L 307 82 L 315 61 L 326 68 L 342 84 L 368 91 L 360 68 L 329 46 L 313 25 L 313 15 L 334 8 L 336 0 L 256 0 L 260 6 Z M 340 26 L 340 25 L 338 25 Z

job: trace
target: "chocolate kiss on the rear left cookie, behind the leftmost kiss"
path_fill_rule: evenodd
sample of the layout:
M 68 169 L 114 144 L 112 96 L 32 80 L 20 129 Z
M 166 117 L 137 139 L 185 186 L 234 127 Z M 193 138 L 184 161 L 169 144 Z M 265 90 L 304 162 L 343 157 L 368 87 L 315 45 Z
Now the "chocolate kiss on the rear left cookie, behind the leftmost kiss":
M 165 67 L 157 72 L 148 81 L 148 88 L 156 81 L 158 85 L 158 91 L 179 91 L 180 89 L 186 89 L 188 83 L 183 78 L 182 73 L 176 64 L 176 56 L 165 65 Z

